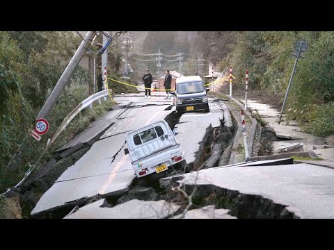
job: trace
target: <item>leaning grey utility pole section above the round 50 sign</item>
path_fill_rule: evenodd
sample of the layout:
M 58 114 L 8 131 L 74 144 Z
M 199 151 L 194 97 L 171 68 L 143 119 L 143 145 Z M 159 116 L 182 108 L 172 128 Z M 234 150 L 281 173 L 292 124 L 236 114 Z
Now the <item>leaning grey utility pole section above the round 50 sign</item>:
M 49 115 L 51 108 L 56 103 L 58 97 L 61 95 L 61 92 L 63 92 L 63 89 L 70 80 L 74 70 L 77 68 L 77 65 L 79 64 L 82 56 L 84 56 L 86 49 L 88 48 L 89 44 L 93 42 L 94 38 L 95 31 L 88 31 L 84 40 L 82 40 L 79 48 L 70 60 L 70 63 L 67 65 L 65 71 L 61 75 L 61 78 L 59 78 L 58 83 L 56 86 L 54 86 L 54 90 L 52 90 L 51 94 L 47 98 L 47 101 L 45 101 L 44 106 L 37 115 L 37 118 L 45 118 L 47 115 Z

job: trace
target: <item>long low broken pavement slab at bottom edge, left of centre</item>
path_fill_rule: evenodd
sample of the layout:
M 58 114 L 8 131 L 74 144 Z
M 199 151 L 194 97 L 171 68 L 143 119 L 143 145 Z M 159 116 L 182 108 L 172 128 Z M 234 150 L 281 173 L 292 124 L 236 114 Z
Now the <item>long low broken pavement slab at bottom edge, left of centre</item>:
M 163 219 L 173 215 L 180 206 L 167 201 L 139 201 L 133 199 L 113 208 L 101 207 L 105 199 L 100 199 L 64 219 Z

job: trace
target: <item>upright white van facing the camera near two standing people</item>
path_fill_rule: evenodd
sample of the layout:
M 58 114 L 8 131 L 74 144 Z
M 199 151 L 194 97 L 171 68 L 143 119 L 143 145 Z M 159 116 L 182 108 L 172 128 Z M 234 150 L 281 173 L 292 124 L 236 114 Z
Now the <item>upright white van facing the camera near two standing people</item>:
M 187 111 L 205 110 L 209 112 L 209 102 L 207 101 L 207 92 L 209 88 L 205 85 L 200 76 L 181 76 L 176 79 L 175 95 L 177 113 Z

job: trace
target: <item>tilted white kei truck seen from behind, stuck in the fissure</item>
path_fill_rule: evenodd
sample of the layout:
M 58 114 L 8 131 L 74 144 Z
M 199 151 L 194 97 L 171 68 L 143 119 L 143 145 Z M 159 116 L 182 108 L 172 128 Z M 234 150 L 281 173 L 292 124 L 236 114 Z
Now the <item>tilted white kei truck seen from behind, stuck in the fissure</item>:
M 172 131 L 164 119 L 127 132 L 124 152 L 129 153 L 136 177 L 166 176 L 186 166 L 175 135 L 177 129 Z

